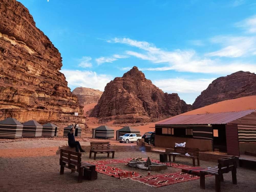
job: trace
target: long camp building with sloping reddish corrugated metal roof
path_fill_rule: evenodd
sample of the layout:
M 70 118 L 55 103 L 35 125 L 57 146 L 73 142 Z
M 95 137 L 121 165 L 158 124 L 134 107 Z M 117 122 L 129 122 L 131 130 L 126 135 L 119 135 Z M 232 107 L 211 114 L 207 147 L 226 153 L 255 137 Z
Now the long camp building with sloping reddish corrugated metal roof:
M 229 155 L 256 151 L 256 110 L 177 115 L 155 125 L 155 145 L 220 151 Z

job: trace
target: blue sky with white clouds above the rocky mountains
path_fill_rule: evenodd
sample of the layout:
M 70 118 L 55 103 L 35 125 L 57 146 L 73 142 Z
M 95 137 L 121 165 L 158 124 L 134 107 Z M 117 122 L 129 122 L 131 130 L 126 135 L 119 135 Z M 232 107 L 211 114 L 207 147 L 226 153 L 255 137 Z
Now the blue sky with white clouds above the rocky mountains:
M 104 90 L 137 66 L 192 104 L 212 80 L 256 72 L 256 2 L 20 0 L 63 58 L 68 86 Z

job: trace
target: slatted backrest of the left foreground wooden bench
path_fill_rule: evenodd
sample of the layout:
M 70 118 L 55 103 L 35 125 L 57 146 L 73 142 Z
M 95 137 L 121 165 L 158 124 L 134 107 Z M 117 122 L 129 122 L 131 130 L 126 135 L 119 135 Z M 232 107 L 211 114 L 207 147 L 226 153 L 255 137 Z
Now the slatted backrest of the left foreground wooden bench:
M 67 163 L 68 168 L 74 168 L 76 166 L 77 171 L 79 172 L 81 166 L 81 153 L 60 149 L 60 165 L 62 162 Z

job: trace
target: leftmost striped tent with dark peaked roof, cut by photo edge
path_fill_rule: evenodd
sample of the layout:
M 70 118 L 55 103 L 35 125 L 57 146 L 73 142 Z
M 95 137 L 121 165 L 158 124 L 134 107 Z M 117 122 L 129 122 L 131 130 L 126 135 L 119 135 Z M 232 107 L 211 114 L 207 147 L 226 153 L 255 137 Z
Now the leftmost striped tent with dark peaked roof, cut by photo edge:
M 0 121 L 0 138 L 19 138 L 22 137 L 23 124 L 14 118 L 7 118 Z

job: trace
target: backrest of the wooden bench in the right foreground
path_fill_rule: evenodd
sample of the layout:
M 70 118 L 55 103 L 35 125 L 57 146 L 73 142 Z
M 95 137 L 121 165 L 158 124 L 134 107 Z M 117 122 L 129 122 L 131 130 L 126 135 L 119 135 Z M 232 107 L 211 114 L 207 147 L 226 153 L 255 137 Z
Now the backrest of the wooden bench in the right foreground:
M 230 156 L 218 159 L 218 173 L 228 173 L 233 168 L 237 168 L 238 157 Z

